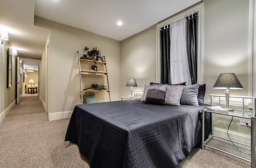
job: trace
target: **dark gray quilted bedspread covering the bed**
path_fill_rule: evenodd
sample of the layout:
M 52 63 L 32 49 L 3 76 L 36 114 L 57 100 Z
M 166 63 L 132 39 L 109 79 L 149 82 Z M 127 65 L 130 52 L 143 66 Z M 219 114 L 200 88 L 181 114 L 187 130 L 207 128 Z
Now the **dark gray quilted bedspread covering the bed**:
M 80 104 L 65 141 L 78 144 L 91 168 L 175 168 L 201 140 L 203 108 L 139 100 Z

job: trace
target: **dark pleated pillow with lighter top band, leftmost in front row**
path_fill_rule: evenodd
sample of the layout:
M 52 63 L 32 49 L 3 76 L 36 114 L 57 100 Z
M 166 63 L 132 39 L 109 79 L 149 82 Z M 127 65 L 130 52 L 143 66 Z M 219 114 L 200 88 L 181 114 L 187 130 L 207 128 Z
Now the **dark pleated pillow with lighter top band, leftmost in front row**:
M 148 86 L 145 103 L 164 105 L 166 84 L 151 84 Z

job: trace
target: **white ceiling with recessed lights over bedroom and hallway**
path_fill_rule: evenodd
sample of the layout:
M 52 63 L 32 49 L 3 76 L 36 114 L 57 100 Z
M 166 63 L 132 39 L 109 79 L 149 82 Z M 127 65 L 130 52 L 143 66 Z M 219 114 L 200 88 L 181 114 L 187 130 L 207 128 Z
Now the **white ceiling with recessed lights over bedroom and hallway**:
M 121 41 L 199 1 L 0 0 L 0 30 L 18 56 L 41 59 L 49 30 L 34 26 L 34 15 Z

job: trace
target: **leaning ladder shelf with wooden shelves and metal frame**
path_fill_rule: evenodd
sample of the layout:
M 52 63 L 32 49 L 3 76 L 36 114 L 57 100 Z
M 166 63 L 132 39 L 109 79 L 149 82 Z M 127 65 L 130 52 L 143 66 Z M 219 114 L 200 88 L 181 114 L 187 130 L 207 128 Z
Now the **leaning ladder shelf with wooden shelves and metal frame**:
M 103 92 L 106 91 L 108 92 L 109 95 L 109 101 L 111 101 L 111 95 L 110 95 L 110 90 L 83 90 L 82 89 L 82 74 L 93 74 L 93 75 L 106 75 L 107 76 L 107 83 L 108 83 L 108 71 L 107 71 L 107 66 L 106 62 L 100 62 L 97 61 L 97 64 L 104 64 L 105 66 L 105 72 L 102 71 L 93 71 L 93 70 L 81 70 L 81 62 L 87 62 L 87 63 L 95 63 L 93 60 L 88 60 L 88 59 L 80 59 L 80 53 L 79 50 L 77 51 L 77 56 L 78 56 L 78 62 L 79 62 L 79 77 L 80 77 L 80 94 L 81 94 L 81 104 L 83 104 L 83 93 L 84 92 Z M 109 84 L 108 84 L 108 89 L 109 89 Z

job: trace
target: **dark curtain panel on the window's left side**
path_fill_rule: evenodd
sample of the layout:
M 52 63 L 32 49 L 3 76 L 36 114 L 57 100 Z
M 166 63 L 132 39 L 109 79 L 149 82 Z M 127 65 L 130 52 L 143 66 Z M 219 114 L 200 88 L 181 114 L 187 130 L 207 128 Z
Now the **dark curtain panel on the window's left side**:
M 170 26 L 166 25 L 160 29 L 160 82 L 171 83 L 170 82 Z

